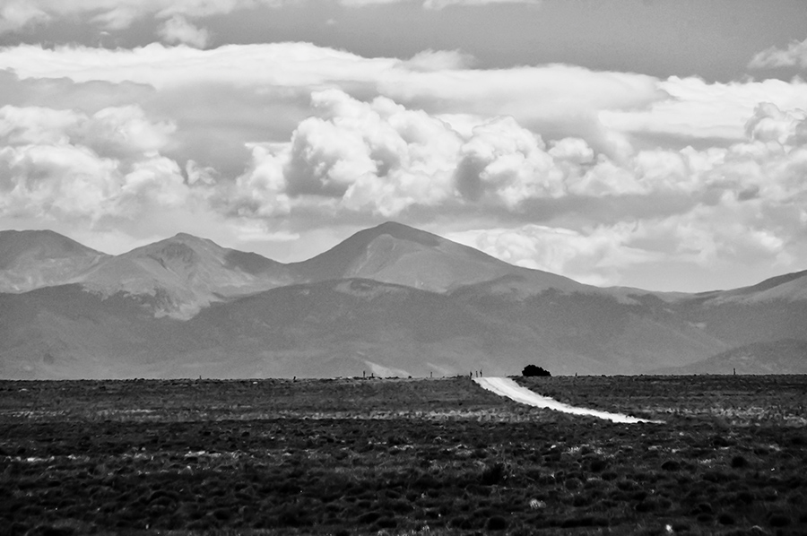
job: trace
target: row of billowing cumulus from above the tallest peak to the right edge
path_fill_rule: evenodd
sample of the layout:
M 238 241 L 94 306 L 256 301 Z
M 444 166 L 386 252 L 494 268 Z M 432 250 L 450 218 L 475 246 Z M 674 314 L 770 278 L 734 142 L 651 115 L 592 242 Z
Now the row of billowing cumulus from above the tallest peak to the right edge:
M 624 161 L 579 138 L 547 145 L 513 117 L 478 118 L 470 129 L 456 129 L 391 99 L 364 102 L 338 90 L 315 93 L 312 111 L 290 141 L 253 147 L 251 169 L 237 181 L 239 214 L 319 203 L 385 217 L 442 206 L 526 218 L 541 202 L 558 203 L 554 212 L 575 213 L 590 225 L 603 214 L 624 220 L 758 198 L 794 203 L 792 196 L 805 191 L 795 177 L 807 121 L 772 105 L 758 108 L 742 143 L 644 150 Z M 777 134 L 760 134 L 770 132 Z M 583 206 L 592 212 L 588 219 Z

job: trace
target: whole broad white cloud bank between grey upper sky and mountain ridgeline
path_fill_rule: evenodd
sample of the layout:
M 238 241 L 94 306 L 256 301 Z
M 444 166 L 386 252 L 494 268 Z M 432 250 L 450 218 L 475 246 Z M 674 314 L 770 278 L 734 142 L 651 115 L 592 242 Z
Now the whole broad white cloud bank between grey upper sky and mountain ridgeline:
M 300 43 L 0 49 L 19 77 L 0 80 L 15 102 L 0 108 L 0 224 L 263 237 L 299 258 L 333 245 L 311 239 L 319 222 L 395 219 L 597 284 L 807 264 L 803 82 L 466 61 Z

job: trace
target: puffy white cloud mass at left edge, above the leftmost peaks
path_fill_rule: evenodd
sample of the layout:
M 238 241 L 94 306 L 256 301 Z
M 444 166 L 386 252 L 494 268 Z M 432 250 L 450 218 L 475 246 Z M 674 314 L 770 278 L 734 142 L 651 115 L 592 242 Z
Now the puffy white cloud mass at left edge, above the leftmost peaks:
M 175 126 L 135 106 L 74 110 L 0 108 L 0 212 L 4 216 L 136 218 L 145 207 L 187 202 L 178 164 L 160 155 Z

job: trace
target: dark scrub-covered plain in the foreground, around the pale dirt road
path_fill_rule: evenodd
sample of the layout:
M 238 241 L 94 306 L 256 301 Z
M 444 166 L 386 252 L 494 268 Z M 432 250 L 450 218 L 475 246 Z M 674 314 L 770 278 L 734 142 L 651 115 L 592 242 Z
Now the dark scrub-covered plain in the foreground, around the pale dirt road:
M 807 376 L 0 382 L 0 534 L 804 534 Z

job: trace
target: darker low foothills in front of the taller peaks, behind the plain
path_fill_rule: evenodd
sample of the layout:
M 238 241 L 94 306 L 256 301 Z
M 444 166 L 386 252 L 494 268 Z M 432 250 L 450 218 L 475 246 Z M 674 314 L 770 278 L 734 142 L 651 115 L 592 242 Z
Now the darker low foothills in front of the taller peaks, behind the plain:
M 30 294 L 0 295 L 5 377 L 507 375 L 531 362 L 629 374 L 725 348 L 654 317 L 654 304 L 560 291 L 512 302 L 331 280 L 214 303 L 187 321 L 154 318 L 143 295 Z

